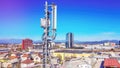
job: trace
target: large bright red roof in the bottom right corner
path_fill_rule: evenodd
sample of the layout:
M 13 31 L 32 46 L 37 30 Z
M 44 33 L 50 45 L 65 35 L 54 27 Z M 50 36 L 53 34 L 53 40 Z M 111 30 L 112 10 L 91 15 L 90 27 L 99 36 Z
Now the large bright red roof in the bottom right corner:
M 104 60 L 104 66 L 105 67 L 119 67 L 120 68 L 120 64 L 117 61 L 117 59 L 110 59 L 110 58 L 107 58 Z

